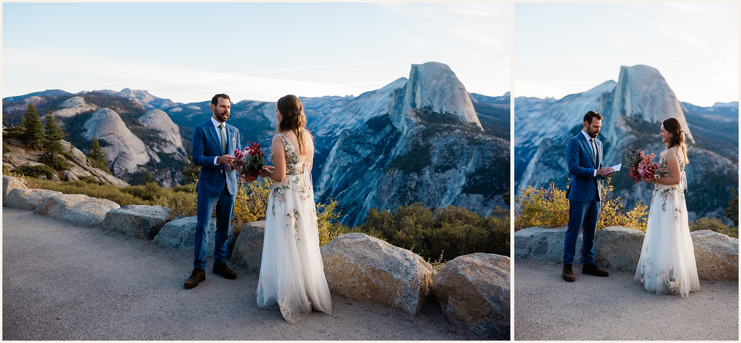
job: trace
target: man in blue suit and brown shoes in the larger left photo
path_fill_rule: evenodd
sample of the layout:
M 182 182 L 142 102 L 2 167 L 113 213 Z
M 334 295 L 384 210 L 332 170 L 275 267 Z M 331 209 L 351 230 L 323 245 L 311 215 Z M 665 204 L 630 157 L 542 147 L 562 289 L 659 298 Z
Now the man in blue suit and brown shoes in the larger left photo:
M 211 99 L 213 117 L 193 129 L 193 163 L 201 166 L 198 178 L 198 208 L 196 209 L 196 238 L 193 272 L 183 287 L 193 288 L 206 280 L 206 247 L 211 214 L 216 207 L 216 237 L 213 249 L 213 273 L 225 278 L 236 278 L 236 272 L 225 263 L 229 222 L 234 212 L 236 171 L 225 168 L 234 161 L 229 153 L 242 146 L 239 130 L 226 123 L 231 101 L 227 94 L 216 94 Z

